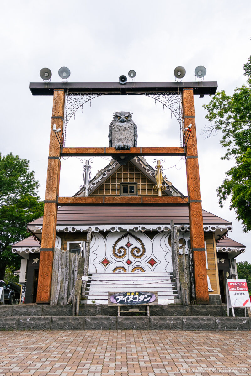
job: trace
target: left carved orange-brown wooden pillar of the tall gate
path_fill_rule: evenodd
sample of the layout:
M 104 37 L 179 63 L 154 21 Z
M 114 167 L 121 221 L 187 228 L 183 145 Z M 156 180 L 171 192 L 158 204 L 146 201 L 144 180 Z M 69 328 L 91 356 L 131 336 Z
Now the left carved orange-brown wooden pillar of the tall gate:
M 50 146 L 44 200 L 44 220 L 38 273 L 37 303 L 50 303 L 50 288 L 52 282 L 53 248 L 56 240 L 56 221 L 58 213 L 58 191 L 60 177 L 60 146 L 63 144 L 64 90 L 54 90 L 52 123 L 50 129 Z M 61 132 L 54 132 L 53 125 Z M 58 136 L 58 138 L 57 138 Z

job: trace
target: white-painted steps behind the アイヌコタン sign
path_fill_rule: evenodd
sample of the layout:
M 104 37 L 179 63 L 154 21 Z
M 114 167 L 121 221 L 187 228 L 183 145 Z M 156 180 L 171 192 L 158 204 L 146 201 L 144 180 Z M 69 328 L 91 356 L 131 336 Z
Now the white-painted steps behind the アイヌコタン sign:
M 125 291 L 157 291 L 158 304 L 181 303 L 172 273 L 92 273 L 81 303 L 107 304 L 108 293 Z

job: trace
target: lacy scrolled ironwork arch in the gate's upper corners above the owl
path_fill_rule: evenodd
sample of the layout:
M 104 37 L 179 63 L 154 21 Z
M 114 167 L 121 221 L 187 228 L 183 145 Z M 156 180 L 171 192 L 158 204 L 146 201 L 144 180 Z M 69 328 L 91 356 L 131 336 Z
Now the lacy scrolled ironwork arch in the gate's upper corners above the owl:
M 65 100 L 65 112 L 64 112 L 64 146 L 65 146 L 65 139 L 66 139 L 66 127 L 70 120 L 70 118 L 75 115 L 76 111 L 79 108 L 82 108 L 85 103 L 90 102 L 92 99 L 95 99 L 100 96 L 104 95 L 113 95 L 116 94 L 115 92 L 103 92 L 103 93 L 86 93 L 86 92 L 68 92 Z M 156 101 L 163 104 L 163 109 L 166 107 L 171 111 L 178 123 L 181 124 L 183 122 L 182 116 L 182 105 L 181 105 L 181 94 L 180 92 L 145 92 L 140 93 L 136 92 L 135 95 L 144 95 L 146 97 L 152 98 Z

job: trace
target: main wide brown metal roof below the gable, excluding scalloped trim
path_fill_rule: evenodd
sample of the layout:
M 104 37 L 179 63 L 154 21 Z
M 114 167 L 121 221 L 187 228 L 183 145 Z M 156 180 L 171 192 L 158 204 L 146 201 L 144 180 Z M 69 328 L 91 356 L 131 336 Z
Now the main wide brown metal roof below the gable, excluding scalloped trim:
M 231 222 L 202 210 L 203 223 L 231 224 Z M 189 224 L 187 206 L 151 206 L 151 205 L 88 205 L 62 206 L 58 208 L 57 225 L 93 225 L 93 224 Z M 43 217 L 29 225 L 41 226 Z

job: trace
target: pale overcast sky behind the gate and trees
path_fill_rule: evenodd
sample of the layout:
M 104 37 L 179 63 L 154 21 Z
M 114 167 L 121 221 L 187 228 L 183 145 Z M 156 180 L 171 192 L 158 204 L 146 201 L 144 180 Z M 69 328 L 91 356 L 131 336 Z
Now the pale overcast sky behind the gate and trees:
M 251 55 L 251 3 L 228 1 L 27 1 L 2 2 L 1 138 L 2 155 L 30 160 L 44 199 L 52 96 L 32 96 L 30 82 L 42 82 L 43 67 L 60 82 L 58 69 L 70 68 L 70 82 L 117 82 L 136 71 L 136 82 L 173 81 L 173 70 L 186 68 L 184 81 L 195 80 L 198 65 L 206 81 L 233 94 L 245 83 L 243 64 Z M 209 96 L 195 96 L 202 207 L 233 222 L 231 238 L 246 245 L 238 260 L 251 262 L 251 237 L 229 211 L 219 208 L 216 188 L 233 161 L 221 161 L 220 135 L 204 139 L 207 125 L 202 105 Z M 163 106 L 147 97 L 101 97 L 76 112 L 67 126 L 66 146 L 108 146 L 114 111 L 131 111 L 138 126 L 138 146 L 179 146 L 179 124 Z M 153 158 L 147 158 L 152 165 Z M 94 158 L 92 173 L 107 164 Z M 176 165 L 176 167 L 175 167 Z M 173 166 L 173 167 L 172 167 Z M 167 178 L 187 194 L 186 170 L 180 158 L 164 162 Z M 61 196 L 72 196 L 82 184 L 78 158 L 62 163 Z

